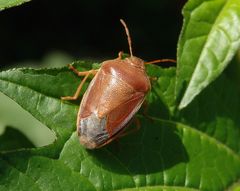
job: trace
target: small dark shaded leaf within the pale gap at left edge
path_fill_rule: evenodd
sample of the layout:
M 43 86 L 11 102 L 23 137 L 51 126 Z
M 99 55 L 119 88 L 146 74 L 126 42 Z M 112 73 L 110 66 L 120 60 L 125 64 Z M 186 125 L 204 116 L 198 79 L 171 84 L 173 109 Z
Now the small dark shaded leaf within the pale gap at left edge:
M 25 135 L 11 127 L 6 127 L 4 134 L 0 136 L 0 143 L 0 151 L 34 147 Z

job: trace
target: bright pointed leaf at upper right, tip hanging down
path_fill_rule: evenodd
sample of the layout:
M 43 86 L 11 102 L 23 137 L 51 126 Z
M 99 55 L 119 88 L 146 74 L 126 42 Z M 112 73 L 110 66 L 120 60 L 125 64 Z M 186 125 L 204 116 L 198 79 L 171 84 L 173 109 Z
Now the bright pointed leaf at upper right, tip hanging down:
M 178 43 L 176 97 L 186 107 L 214 81 L 240 44 L 239 0 L 190 0 Z

